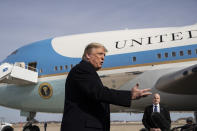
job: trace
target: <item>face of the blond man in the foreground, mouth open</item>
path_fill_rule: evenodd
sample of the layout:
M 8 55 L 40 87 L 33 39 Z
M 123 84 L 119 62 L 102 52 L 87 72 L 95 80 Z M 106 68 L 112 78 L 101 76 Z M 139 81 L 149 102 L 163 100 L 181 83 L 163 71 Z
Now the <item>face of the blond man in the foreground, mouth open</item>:
M 86 54 L 88 61 L 99 70 L 102 67 L 105 58 L 105 49 L 103 47 L 93 48 L 90 54 Z

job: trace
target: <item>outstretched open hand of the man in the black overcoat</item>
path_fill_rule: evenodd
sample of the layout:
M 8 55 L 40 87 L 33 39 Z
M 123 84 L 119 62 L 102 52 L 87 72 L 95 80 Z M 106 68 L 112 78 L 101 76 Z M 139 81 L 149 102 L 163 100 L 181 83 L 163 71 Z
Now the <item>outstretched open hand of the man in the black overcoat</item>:
M 139 84 L 136 84 L 136 86 L 131 89 L 131 94 L 132 94 L 131 99 L 136 100 L 136 99 L 140 99 L 141 97 L 151 95 L 152 93 L 150 91 L 151 89 L 140 90 Z

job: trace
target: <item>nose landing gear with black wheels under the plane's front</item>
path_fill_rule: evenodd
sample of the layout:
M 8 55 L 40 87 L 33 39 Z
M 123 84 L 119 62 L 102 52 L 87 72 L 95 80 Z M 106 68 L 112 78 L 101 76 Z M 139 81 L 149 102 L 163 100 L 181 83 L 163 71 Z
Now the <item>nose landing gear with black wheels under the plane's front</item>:
M 28 121 L 23 127 L 23 131 L 40 131 L 40 128 L 38 126 L 33 125 L 33 123 L 38 122 L 34 119 L 36 112 L 21 112 L 21 115 L 26 116 Z

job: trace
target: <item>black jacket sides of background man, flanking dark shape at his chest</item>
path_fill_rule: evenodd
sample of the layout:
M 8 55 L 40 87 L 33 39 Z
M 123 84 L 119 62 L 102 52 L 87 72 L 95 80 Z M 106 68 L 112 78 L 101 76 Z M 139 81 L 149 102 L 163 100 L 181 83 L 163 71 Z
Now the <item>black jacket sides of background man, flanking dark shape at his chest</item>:
M 164 106 L 162 105 L 159 106 L 160 106 L 159 114 L 162 116 L 162 118 L 165 119 L 165 122 L 167 122 L 166 129 L 170 129 L 170 124 L 171 124 L 170 113 Z M 147 106 L 144 111 L 142 122 L 145 128 L 147 128 L 148 130 L 150 130 L 150 128 L 155 128 L 155 124 L 151 119 L 152 113 L 153 113 L 153 105 Z

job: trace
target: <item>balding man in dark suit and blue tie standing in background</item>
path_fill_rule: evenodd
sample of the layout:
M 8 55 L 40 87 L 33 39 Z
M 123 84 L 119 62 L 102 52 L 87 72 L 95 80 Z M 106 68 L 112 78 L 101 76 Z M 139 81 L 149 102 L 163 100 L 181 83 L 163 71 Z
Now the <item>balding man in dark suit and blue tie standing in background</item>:
M 169 111 L 160 103 L 158 93 L 153 96 L 153 105 L 147 106 L 143 115 L 143 125 L 150 131 L 168 131 L 171 126 Z

